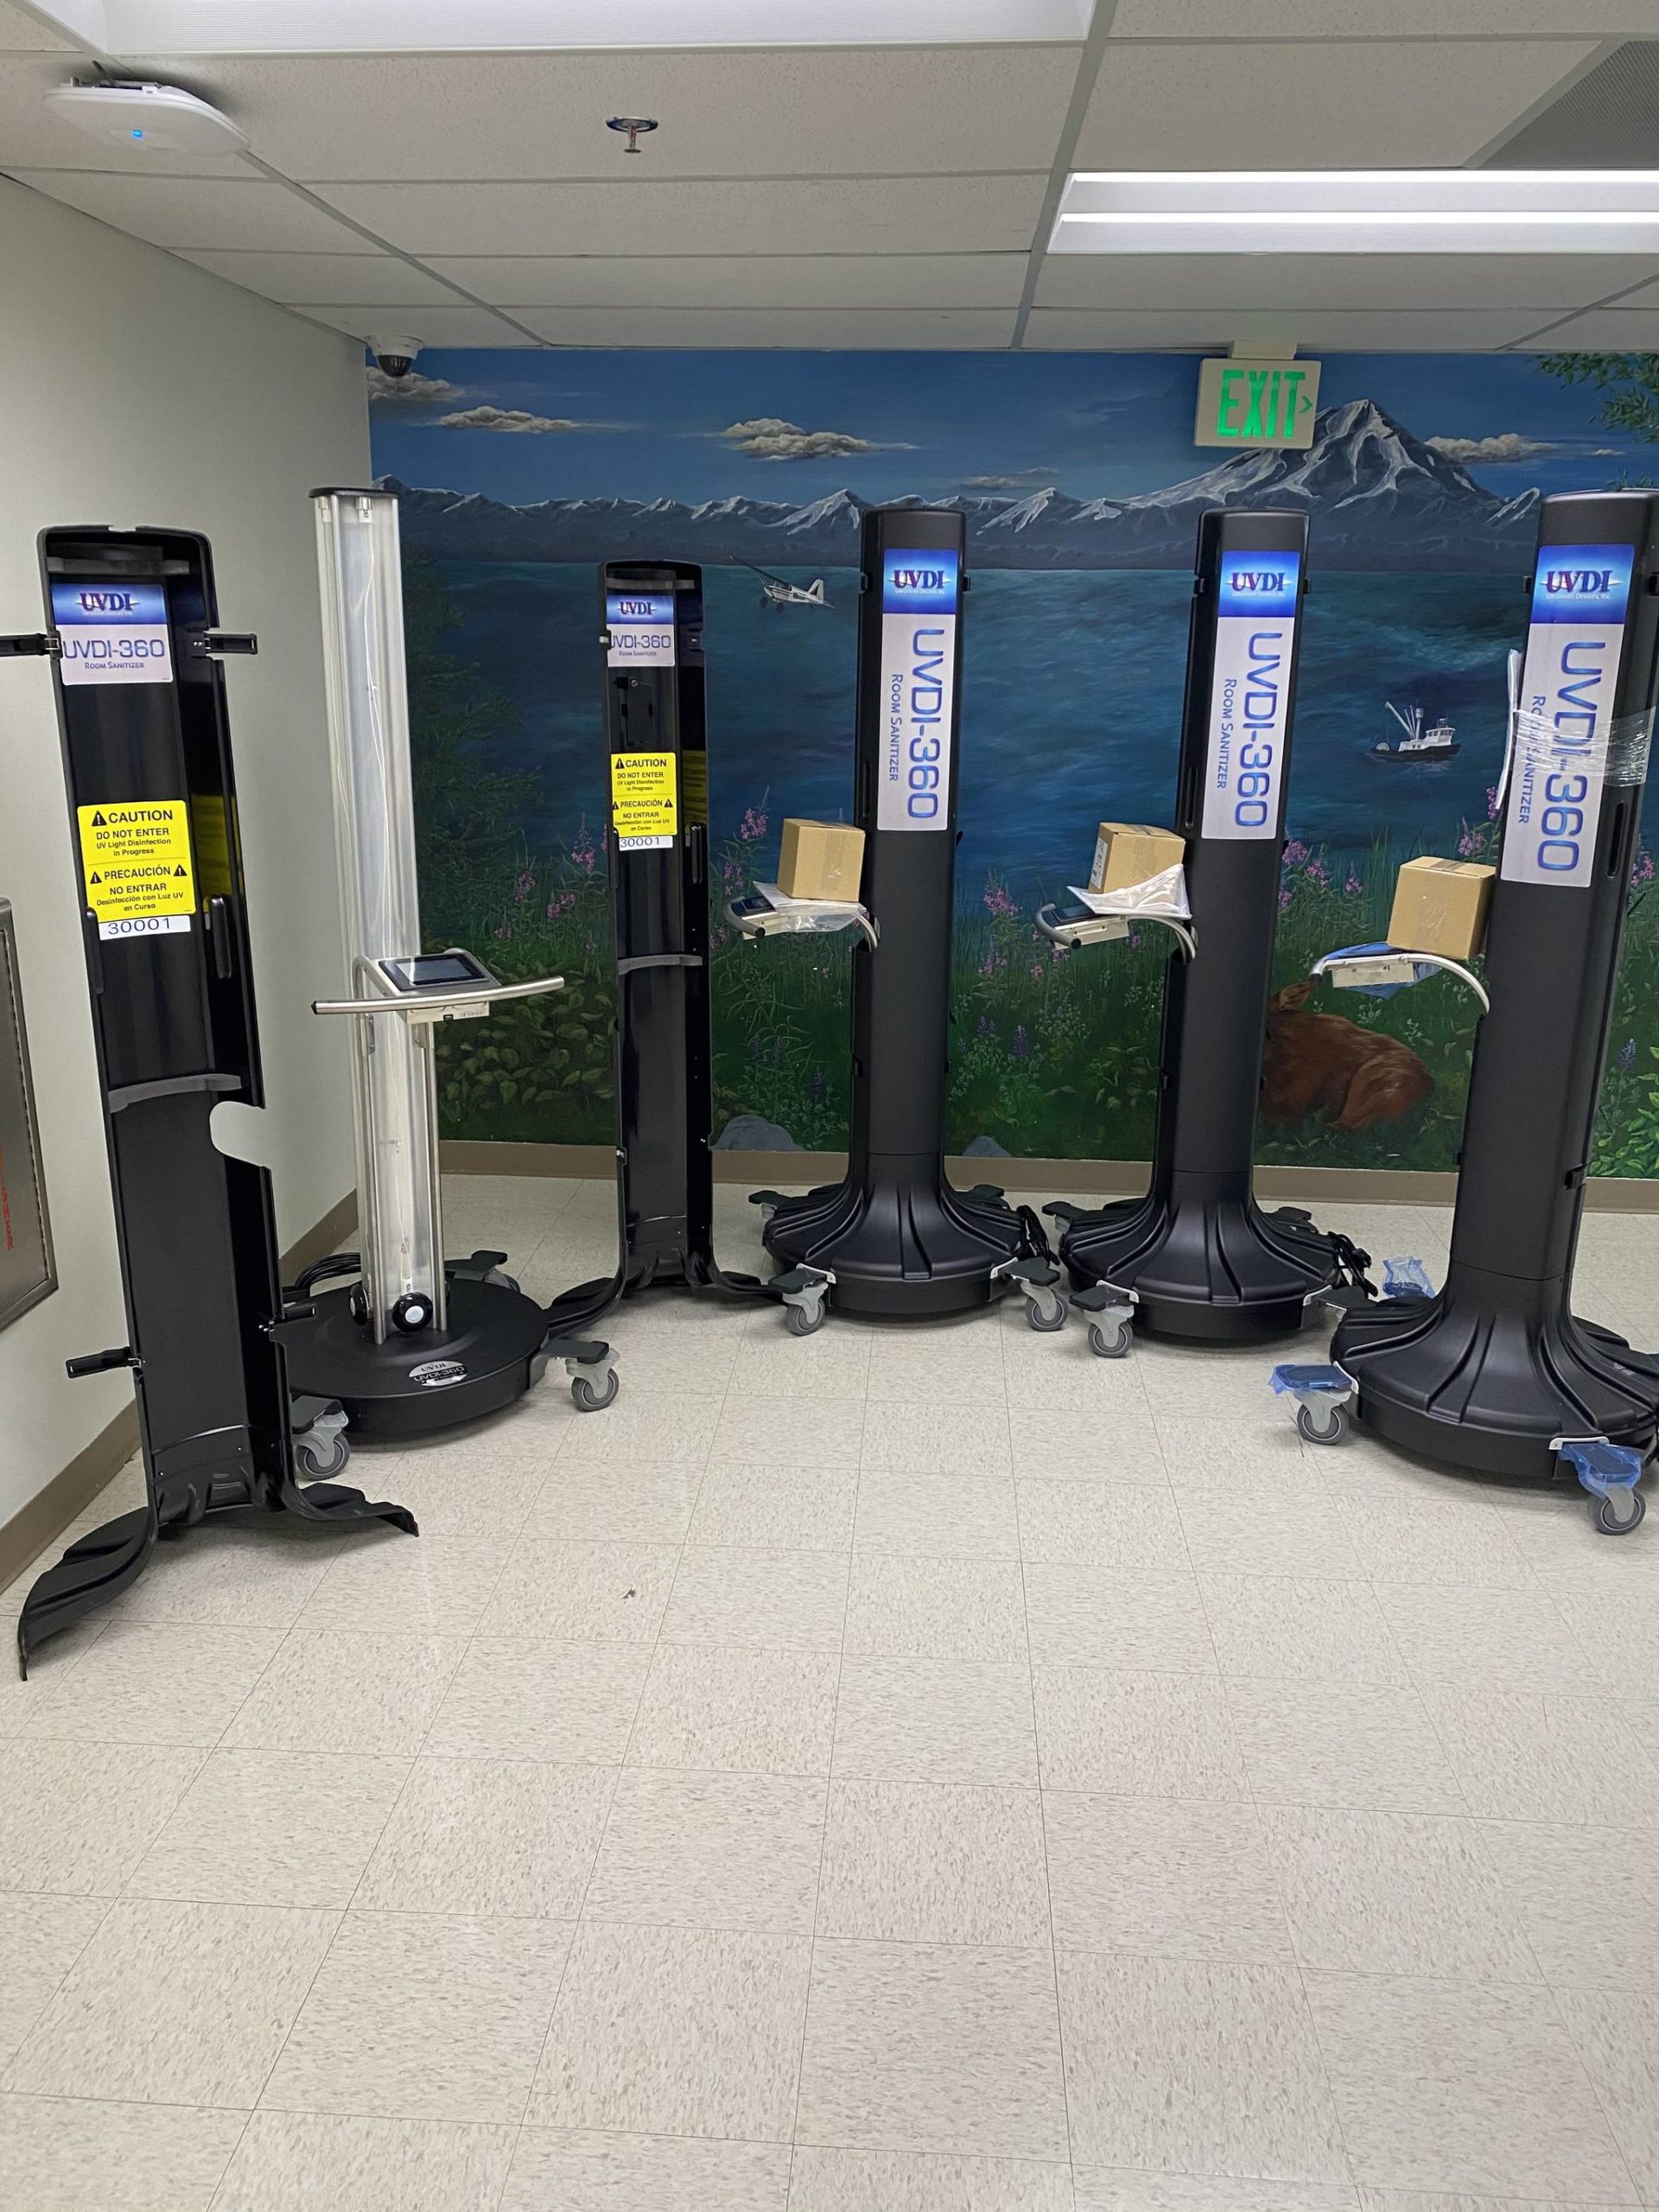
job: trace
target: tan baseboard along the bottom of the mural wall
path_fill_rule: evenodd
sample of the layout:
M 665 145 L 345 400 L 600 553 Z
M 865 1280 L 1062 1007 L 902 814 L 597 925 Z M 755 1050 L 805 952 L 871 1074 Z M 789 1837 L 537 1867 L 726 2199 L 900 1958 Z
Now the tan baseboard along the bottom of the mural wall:
M 608 1144 L 476 1144 L 445 1139 L 447 1175 L 611 1177 Z M 1144 1159 L 1002 1159 L 973 1155 L 945 1161 L 951 1181 L 1000 1183 L 1004 1190 L 1088 1190 L 1133 1197 L 1146 1190 Z M 845 1152 L 714 1152 L 717 1183 L 834 1183 L 847 1172 Z M 1458 1177 L 1427 1168 L 1256 1168 L 1263 1199 L 1323 1199 L 1327 1206 L 1451 1206 Z M 1584 1186 L 1593 1214 L 1659 1214 L 1659 1177 L 1593 1175 Z

